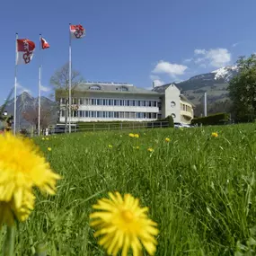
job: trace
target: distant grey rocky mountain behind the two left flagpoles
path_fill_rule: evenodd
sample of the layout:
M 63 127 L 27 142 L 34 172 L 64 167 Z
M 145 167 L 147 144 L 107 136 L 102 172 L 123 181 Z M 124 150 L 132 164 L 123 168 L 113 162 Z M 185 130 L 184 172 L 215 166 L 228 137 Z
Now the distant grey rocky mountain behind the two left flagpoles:
M 42 96 L 40 98 L 41 108 L 45 110 L 52 110 L 56 108 L 56 102 L 49 100 L 49 98 Z M 38 109 L 38 98 L 34 98 L 30 93 L 23 92 L 17 97 L 17 124 L 18 126 L 25 128 L 29 123 L 23 119 L 22 113 L 29 112 L 31 109 Z M 14 98 L 7 102 L 5 110 L 8 114 L 14 113 Z M 57 110 L 52 111 L 52 119 L 57 119 Z

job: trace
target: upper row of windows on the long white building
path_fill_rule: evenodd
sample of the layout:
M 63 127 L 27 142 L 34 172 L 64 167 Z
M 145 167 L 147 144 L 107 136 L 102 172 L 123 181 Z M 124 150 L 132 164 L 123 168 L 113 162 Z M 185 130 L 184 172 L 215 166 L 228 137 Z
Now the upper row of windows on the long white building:
M 61 98 L 60 103 L 65 104 L 66 99 Z M 75 105 L 92 105 L 92 106 L 157 107 L 157 101 L 115 100 L 115 99 L 73 98 L 72 99 L 72 104 L 75 104 Z

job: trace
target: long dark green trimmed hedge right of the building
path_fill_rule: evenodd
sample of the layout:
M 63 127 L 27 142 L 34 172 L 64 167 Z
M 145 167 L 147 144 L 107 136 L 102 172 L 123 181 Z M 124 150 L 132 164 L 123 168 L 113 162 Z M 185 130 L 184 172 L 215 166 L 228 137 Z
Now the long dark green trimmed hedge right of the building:
M 221 125 L 230 120 L 230 115 L 227 113 L 217 113 L 214 115 L 209 115 L 207 117 L 196 118 L 191 120 L 191 124 L 202 124 L 207 125 Z

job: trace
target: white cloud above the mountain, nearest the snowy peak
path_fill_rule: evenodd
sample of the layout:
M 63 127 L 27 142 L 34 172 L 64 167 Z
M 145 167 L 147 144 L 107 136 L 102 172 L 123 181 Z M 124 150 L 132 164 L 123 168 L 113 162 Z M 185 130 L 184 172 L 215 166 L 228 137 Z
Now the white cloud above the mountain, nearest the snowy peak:
M 201 55 L 202 57 L 198 57 L 195 59 L 195 63 L 200 66 L 215 66 L 222 67 L 226 66 L 231 61 L 231 53 L 228 49 L 195 49 L 195 55 Z

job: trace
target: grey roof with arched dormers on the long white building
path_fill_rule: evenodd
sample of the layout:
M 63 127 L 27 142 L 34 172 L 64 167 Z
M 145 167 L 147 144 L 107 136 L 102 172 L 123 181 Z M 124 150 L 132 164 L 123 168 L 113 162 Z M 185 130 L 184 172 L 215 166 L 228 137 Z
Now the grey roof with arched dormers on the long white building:
M 142 93 L 142 94 L 153 94 L 159 93 L 146 90 L 144 88 L 138 88 L 133 84 L 126 83 L 100 83 L 100 82 L 87 82 L 78 84 L 75 87 L 75 91 L 80 92 L 110 92 L 110 93 Z

